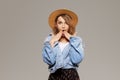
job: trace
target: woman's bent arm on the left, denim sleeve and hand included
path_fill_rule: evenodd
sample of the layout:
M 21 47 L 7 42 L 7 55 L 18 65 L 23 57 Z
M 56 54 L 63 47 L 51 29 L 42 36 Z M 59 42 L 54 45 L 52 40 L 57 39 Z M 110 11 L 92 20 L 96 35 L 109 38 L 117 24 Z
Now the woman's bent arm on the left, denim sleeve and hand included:
M 54 48 L 61 35 L 61 31 L 56 35 L 50 34 L 44 42 L 44 47 L 42 51 L 43 60 L 49 65 L 54 65 L 56 62 L 56 54 Z

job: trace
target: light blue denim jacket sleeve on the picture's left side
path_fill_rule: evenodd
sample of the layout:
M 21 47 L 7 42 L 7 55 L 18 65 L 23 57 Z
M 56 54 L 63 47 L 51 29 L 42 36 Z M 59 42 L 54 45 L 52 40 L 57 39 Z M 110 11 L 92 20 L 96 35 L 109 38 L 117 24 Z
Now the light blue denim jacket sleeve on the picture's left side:
M 56 55 L 53 52 L 53 48 L 51 47 L 49 41 L 50 41 L 50 37 L 48 37 L 44 42 L 44 47 L 42 49 L 42 57 L 45 63 L 52 66 L 55 64 Z

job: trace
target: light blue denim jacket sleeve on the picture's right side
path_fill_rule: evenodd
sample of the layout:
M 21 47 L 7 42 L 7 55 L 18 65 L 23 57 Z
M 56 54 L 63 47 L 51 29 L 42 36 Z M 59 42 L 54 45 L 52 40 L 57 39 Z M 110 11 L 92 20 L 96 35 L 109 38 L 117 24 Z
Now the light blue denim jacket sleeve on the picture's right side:
M 70 59 L 73 64 L 79 64 L 84 57 L 82 39 L 80 37 L 70 37 Z

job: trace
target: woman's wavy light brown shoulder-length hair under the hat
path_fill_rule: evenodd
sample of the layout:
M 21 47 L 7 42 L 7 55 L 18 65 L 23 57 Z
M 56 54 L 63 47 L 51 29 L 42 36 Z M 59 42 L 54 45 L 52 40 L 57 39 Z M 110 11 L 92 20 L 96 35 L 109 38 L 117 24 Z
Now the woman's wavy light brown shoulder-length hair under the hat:
M 72 25 L 72 18 L 67 14 L 60 14 L 56 17 L 55 25 L 54 25 L 54 28 L 53 28 L 53 33 L 57 34 L 59 32 L 59 30 L 57 28 L 57 20 L 60 16 L 65 20 L 66 24 L 69 25 L 68 33 L 73 35 L 75 33 L 75 26 Z

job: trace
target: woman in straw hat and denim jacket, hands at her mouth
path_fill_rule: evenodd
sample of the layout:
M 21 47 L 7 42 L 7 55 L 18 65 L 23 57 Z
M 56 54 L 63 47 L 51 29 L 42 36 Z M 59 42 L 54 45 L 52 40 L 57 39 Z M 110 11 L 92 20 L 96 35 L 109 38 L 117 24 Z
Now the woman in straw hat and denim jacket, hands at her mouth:
M 49 16 L 53 32 L 44 41 L 43 61 L 48 64 L 48 80 L 80 80 L 77 72 L 83 60 L 82 39 L 76 36 L 77 15 L 67 9 L 59 9 Z

